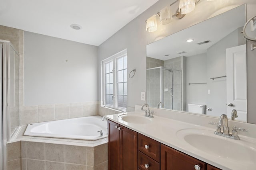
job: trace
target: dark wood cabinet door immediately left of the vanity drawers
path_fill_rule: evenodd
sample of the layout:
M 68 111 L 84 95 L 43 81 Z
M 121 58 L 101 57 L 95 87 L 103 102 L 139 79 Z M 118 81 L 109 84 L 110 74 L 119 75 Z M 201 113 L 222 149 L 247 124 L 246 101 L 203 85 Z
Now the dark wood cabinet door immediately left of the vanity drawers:
M 120 127 L 120 170 L 136 170 L 138 168 L 138 133 L 126 127 Z

